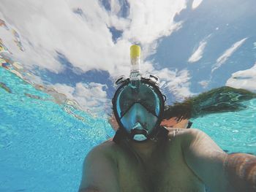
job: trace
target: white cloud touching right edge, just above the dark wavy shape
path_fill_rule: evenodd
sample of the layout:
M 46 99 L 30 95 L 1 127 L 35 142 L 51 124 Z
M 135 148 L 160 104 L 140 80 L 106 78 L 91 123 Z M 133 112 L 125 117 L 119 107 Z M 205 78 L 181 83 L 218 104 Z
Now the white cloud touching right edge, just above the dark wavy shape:
M 238 71 L 232 74 L 226 85 L 233 88 L 244 88 L 249 91 L 256 91 L 256 63 L 251 69 Z

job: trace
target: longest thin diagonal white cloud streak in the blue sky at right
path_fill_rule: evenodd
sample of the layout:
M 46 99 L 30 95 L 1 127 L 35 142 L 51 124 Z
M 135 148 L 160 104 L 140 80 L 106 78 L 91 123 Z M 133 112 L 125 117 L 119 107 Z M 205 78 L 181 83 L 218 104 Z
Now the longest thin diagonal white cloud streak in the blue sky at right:
M 216 69 L 219 69 L 222 64 L 224 64 L 228 58 L 246 41 L 247 38 L 241 39 L 240 41 L 234 43 L 229 49 L 225 51 L 218 59 L 217 63 L 211 67 L 211 72 L 214 72 Z

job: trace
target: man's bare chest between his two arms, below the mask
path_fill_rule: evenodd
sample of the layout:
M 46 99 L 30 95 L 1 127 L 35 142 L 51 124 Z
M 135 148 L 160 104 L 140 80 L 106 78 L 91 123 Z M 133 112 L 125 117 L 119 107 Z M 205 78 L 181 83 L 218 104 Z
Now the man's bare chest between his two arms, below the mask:
M 176 150 L 172 155 L 162 151 L 145 161 L 139 155 L 121 154 L 117 161 L 121 190 L 202 191 L 203 183 L 184 162 L 182 153 Z

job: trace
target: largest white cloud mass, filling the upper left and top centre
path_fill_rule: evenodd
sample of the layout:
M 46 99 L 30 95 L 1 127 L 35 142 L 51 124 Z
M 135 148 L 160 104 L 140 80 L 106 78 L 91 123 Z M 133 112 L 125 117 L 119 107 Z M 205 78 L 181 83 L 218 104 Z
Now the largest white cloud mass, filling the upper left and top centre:
M 147 47 L 181 27 L 173 18 L 186 7 L 185 0 L 129 1 L 129 17 L 118 18 L 120 5 L 118 1 L 110 2 L 111 11 L 107 12 L 99 1 L 2 0 L 0 16 L 18 31 L 26 51 L 18 50 L 11 37 L 4 42 L 27 66 L 59 73 L 63 70 L 56 61 L 59 51 L 83 72 L 99 69 L 115 76 L 129 68 L 129 46 L 133 41 L 146 47 L 144 56 L 151 54 Z M 83 17 L 73 12 L 78 7 Z M 124 31 L 116 44 L 108 26 Z

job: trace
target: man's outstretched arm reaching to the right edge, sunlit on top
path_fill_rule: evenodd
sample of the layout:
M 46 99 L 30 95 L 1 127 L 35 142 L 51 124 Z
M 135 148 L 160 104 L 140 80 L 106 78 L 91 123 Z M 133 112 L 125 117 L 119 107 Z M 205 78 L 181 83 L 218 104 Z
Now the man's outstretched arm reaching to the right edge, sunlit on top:
M 188 130 L 184 138 L 185 161 L 213 191 L 256 191 L 254 155 L 227 155 L 207 134 L 197 129 Z

